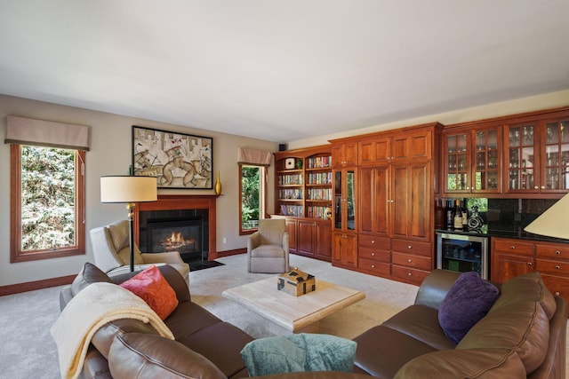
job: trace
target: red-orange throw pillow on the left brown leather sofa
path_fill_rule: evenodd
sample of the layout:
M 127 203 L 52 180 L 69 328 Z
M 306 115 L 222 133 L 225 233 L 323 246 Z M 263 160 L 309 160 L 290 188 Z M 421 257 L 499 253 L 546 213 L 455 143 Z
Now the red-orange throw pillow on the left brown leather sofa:
M 137 273 L 120 286 L 142 298 L 162 320 L 165 320 L 178 306 L 176 292 L 156 265 Z

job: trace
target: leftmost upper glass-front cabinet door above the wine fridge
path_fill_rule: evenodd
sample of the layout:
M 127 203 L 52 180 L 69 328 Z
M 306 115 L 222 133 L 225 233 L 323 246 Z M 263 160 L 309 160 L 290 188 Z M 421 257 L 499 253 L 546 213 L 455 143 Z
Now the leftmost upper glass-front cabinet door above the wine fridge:
M 469 192 L 469 133 L 445 137 L 445 192 Z

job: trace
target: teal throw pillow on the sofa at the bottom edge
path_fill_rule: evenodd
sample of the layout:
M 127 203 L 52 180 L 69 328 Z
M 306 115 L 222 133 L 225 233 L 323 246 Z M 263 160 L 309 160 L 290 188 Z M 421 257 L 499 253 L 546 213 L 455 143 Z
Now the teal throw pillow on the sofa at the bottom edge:
M 298 334 L 260 338 L 241 351 L 250 376 L 300 371 L 347 371 L 354 367 L 357 343 L 346 338 Z

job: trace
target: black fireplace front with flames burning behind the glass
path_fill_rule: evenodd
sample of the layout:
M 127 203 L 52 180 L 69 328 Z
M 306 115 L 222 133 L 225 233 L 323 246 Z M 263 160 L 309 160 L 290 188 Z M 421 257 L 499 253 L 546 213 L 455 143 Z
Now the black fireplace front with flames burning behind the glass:
M 148 252 L 178 251 L 184 258 L 202 257 L 203 222 L 201 217 L 148 220 Z

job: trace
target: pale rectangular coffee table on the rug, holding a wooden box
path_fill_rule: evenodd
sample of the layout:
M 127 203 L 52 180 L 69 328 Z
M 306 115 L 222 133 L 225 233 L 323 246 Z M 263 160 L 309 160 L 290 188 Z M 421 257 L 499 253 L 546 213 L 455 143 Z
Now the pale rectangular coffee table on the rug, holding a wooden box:
M 288 333 L 316 333 L 320 320 L 365 298 L 363 292 L 325 280 L 317 279 L 316 285 L 313 292 L 293 296 L 276 289 L 276 277 L 272 277 L 226 289 L 223 296 Z M 276 334 L 281 332 L 278 328 Z

